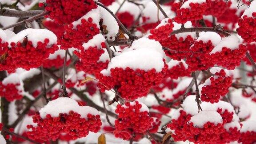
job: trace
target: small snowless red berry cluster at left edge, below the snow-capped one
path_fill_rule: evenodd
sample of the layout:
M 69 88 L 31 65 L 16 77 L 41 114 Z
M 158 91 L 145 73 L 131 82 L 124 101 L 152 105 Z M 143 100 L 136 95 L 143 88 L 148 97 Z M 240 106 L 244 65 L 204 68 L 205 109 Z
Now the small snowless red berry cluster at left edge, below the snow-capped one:
M 3 84 L 0 82 L 0 96 L 8 101 L 20 100 L 23 96 L 20 94 L 22 91 L 17 89 L 20 84 Z

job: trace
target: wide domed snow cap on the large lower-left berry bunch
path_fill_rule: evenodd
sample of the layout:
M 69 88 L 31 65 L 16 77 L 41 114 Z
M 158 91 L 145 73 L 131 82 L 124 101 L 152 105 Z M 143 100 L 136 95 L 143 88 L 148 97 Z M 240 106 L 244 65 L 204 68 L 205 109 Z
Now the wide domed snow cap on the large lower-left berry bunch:
M 60 113 L 67 113 L 73 111 L 81 115 L 81 118 L 87 118 L 87 115 L 90 113 L 92 115 L 98 115 L 99 112 L 92 107 L 88 106 L 79 106 L 76 100 L 73 100 L 68 97 L 59 97 L 56 100 L 50 101 L 40 109 L 40 117 L 44 119 L 47 114 L 50 114 L 52 117 L 58 117 Z

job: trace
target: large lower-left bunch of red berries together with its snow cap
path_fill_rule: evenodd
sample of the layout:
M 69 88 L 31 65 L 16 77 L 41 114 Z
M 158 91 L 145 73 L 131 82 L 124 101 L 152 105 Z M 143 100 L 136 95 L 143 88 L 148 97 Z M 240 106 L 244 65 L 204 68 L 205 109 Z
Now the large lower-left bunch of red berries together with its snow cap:
M 45 110 L 47 110 L 49 106 L 56 107 L 56 105 L 67 102 L 69 103 L 68 109 L 74 109 L 74 111 L 70 110 L 67 113 L 57 112 L 52 113 L 52 115 L 45 113 Z M 70 105 L 73 107 L 70 107 Z M 63 108 L 59 108 L 58 110 L 61 111 L 61 109 Z M 88 114 L 81 114 L 81 109 L 87 109 Z M 58 98 L 56 100 L 52 100 L 32 117 L 33 122 L 36 123 L 37 126 L 27 126 L 27 128 L 32 129 L 32 131 L 27 132 L 28 138 L 32 140 L 55 141 L 61 135 L 66 134 L 72 136 L 72 140 L 76 140 L 77 138 L 87 136 L 89 132 L 96 133 L 100 130 L 100 126 L 102 124 L 100 116 L 93 114 L 93 111 L 95 111 L 94 109 L 91 111 L 92 113 L 88 112 L 88 109 L 92 110 L 92 108 L 87 106 L 79 106 L 75 100 L 70 98 Z

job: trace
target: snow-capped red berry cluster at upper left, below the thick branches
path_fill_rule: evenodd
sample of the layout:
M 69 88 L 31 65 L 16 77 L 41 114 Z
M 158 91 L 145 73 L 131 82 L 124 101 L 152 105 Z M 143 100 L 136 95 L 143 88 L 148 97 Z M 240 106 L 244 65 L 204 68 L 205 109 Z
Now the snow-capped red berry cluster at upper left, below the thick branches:
M 45 29 L 25 29 L 9 40 L 8 56 L 16 68 L 38 68 L 59 47 L 57 37 Z

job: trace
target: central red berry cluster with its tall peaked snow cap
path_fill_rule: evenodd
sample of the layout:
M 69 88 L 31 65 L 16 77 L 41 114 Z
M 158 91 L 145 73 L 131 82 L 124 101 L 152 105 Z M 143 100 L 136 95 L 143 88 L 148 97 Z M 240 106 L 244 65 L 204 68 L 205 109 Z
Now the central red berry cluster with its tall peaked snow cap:
M 120 96 L 127 100 L 146 96 L 166 74 L 168 65 L 163 56 L 162 47 L 155 40 L 135 40 L 131 48 L 115 56 L 108 68 L 96 75 L 100 91 L 117 88 Z

